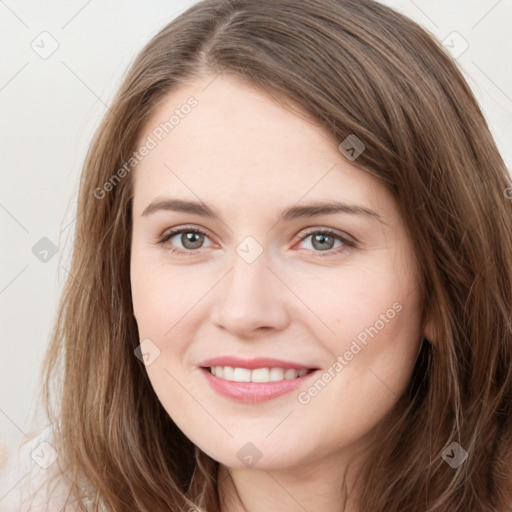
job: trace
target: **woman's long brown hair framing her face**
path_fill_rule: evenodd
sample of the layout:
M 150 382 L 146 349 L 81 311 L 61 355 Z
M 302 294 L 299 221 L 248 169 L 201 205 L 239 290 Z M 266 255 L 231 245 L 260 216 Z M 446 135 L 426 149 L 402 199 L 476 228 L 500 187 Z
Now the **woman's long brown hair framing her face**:
M 70 497 L 85 485 L 91 510 L 220 510 L 218 463 L 177 428 L 134 356 L 133 174 L 119 172 L 163 97 L 205 72 L 262 87 L 336 145 L 355 134 L 365 151 L 353 164 L 382 180 L 406 223 L 432 329 L 376 429 L 361 511 L 510 510 L 511 179 L 453 59 L 372 0 L 205 0 L 135 59 L 85 161 L 42 374 Z M 443 460 L 453 442 L 468 454 L 457 468 Z

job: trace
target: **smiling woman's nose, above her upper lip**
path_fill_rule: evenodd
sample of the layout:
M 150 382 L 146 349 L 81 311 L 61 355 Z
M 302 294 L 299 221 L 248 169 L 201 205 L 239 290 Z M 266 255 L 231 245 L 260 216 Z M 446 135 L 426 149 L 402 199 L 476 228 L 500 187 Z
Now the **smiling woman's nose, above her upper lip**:
M 233 267 L 216 287 L 212 320 L 217 327 L 240 339 L 287 327 L 289 292 L 268 263 L 265 252 L 252 263 L 235 255 Z

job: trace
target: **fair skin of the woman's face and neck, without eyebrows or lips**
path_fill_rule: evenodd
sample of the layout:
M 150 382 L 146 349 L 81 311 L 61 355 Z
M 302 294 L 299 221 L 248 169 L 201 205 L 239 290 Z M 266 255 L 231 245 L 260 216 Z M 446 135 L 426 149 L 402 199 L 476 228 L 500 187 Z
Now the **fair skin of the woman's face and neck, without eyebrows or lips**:
M 160 350 L 146 370 L 170 417 L 221 464 L 223 512 L 243 509 L 233 501 L 235 486 L 250 512 L 341 510 L 343 471 L 364 459 L 372 428 L 410 380 L 421 340 L 417 273 L 403 221 L 384 185 L 338 151 L 341 141 L 225 75 L 170 93 L 139 140 L 190 96 L 197 107 L 134 171 L 134 315 L 140 339 Z M 168 196 L 202 200 L 222 220 L 143 215 Z M 277 222 L 288 206 L 327 200 L 372 209 L 381 222 L 343 212 Z M 183 245 L 181 235 L 157 243 L 180 226 L 206 231 L 203 244 Z M 331 228 L 356 246 L 338 239 L 321 246 L 313 236 L 300 241 L 308 228 Z M 236 252 L 248 236 L 262 250 L 252 263 Z M 396 303 L 401 311 L 307 404 L 295 391 L 263 403 L 235 402 L 211 389 L 198 369 L 206 358 L 238 355 L 327 370 Z M 237 457 L 248 442 L 261 452 L 253 467 Z M 357 511 L 350 475 L 346 510 Z

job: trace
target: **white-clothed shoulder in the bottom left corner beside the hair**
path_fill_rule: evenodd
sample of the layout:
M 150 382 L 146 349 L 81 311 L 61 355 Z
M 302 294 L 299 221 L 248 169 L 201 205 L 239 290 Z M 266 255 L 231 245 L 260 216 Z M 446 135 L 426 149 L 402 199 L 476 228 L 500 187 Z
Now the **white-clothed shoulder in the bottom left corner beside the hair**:
M 66 505 L 69 485 L 66 485 L 67 479 L 60 475 L 52 434 L 51 426 L 47 427 L 4 456 L 0 464 L 0 512 L 79 510 Z M 55 478 L 55 475 L 60 476 Z

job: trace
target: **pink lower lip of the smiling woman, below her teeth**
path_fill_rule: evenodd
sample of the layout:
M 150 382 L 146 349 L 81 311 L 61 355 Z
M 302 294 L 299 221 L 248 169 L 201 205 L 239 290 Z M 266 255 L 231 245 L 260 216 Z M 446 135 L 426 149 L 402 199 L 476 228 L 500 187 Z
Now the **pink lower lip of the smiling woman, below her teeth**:
M 318 370 L 306 373 L 306 375 L 295 379 L 284 379 L 274 382 L 235 382 L 212 375 L 209 368 L 201 368 L 201 371 L 206 377 L 208 384 L 217 393 L 232 398 L 237 402 L 258 403 L 272 400 L 300 388 Z

